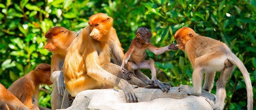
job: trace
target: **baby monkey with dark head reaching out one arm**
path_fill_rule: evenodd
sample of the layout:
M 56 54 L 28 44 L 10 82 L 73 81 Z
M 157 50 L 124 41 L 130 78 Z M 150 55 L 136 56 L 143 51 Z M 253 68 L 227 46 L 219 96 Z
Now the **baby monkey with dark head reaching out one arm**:
M 136 38 L 134 38 L 130 44 L 129 50 L 125 53 L 123 63 L 121 66 L 121 71 L 125 73 L 124 66 L 127 65 L 127 70 L 129 71 L 127 75 L 127 79 L 130 79 L 134 74 L 134 70 L 137 69 L 150 69 L 152 73 L 150 84 L 154 86 L 158 86 L 159 80 L 156 79 L 156 69 L 154 65 L 154 61 L 145 60 L 147 57 L 146 49 L 152 51 L 155 55 L 162 54 L 166 51 L 176 50 L 178 47 L 173 44 L 157 48 L 153 44 L 151 44 L 151 32 L 149 29 L 145 27 L 138 28 L 136 32 Z M 129 62 L 128 62 L 129 60 Z

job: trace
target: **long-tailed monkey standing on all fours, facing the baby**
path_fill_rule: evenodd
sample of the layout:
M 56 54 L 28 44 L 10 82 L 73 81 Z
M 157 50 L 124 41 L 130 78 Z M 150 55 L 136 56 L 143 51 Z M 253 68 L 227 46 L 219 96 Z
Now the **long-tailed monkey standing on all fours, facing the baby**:
M 247 88 L 247 109 L 253 109 L 253 90 L 250 75 L 243 63 L 235 56 L 230 48 L 218 40 L 200 36 L 188 27 L 180 28 L 174 38 L 179 49 L 187 53 L 187 56 L 194 69 L 192 75 L 193 88 L 180 85 L 178 90 L 185 91 L 189 95 L 199 96 L 201 94 L 201 84 L 203 73 L 205 72 L 204 90 L 211 92 L 216 71 L 221 71 L 220 78 L 216 83 L 215 103 L 206 99 L 214 110 L 222 110 L 226 98 L 225 86 L 235 66 L 241 71 Z

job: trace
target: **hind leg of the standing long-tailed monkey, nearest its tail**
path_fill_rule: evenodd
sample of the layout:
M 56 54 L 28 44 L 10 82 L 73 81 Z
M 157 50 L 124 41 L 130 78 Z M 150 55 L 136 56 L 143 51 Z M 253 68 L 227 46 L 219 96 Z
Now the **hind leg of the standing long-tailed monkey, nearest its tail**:
M 221 71 L 221 75 L 218 81 L 216 82 L 216 100 L 213 106 L 214 110 L 223 110 L 224 108 L 224 101 L 226 98 L 225 86 L 234 69 L 235 69 L 235 66 L 232 65 L 231 67 L 225 68 L 223 69 L 223 71 Z

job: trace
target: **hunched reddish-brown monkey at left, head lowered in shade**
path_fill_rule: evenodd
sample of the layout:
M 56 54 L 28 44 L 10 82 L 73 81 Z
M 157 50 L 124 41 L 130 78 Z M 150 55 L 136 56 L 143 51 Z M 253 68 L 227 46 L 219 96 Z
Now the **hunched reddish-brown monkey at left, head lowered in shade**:
M 39 85 L 52 84 L 50 81 L 50 69 L 51 66 L 48 64 L 39 64 L 34 70 L 12 83 L 7 90 L 29 109 L 39 110 Z

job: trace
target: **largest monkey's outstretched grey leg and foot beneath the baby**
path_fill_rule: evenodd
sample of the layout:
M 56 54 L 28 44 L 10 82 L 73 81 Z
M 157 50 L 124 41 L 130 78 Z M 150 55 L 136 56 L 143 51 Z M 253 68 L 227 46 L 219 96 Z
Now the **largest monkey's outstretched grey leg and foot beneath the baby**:
M 122 78 L 122 79 L 126 79 L 126 76 L 124 73 L 122 73 L 120 71 L 120 66 L 118 65 L 115 65 L 113 63 L 105 63 L 103 65 L 101 65 L 101 67 L 106 70 L 107 72 L 119 77 L 119 78 Z M 129 71 L 127 71 L 129 72 Z M 145 82 L 143 82 L 142 80 L 132 76 L 130 80 L 126 80 L 129 84 L 133 84 L 133 85 L 137 85 L 139 87 L 145 87 L 147 86 L 148 84 L 146 84 Z

